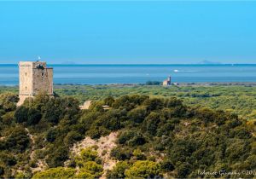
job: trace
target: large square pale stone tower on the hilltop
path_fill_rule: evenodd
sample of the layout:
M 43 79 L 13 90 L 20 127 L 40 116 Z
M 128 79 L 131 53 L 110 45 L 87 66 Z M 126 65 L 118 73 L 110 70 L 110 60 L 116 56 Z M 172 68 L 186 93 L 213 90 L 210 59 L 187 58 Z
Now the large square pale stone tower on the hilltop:
M 21 105 L 27 97 L 33 97 L 42 91 L 53 94 L 53 68 L 47 67 L 44 61 L 20 61 L 20 101 Z

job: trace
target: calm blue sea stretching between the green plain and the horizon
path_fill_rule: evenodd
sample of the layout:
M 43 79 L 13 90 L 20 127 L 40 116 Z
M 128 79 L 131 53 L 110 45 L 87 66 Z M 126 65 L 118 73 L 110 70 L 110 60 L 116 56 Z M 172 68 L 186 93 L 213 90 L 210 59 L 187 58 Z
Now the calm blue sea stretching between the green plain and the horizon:
M 172 82 L 256 82 L 256 65 L 49 65 L 55 84 L 143 84 Z M 0 85 L 19 83 L 17 65 L 0 65 Z

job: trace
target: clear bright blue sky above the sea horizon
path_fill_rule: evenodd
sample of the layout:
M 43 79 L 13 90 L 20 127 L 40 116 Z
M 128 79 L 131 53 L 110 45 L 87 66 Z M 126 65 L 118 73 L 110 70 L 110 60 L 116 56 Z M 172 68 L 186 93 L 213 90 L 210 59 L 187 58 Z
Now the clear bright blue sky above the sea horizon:
M 256 2 L 1 2 L 0 63 L 256 63 Z

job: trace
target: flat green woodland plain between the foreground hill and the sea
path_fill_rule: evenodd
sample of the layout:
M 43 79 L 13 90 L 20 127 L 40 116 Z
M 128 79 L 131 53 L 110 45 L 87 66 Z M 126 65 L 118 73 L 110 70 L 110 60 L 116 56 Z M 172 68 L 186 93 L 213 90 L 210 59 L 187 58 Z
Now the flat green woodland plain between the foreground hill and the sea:
M 4 91 L 18 94 L 17 87 L 0 87 L 0 93 Z M 256 120 L 256 86 L 249 84 L 212 86 L 196 86 L 194 84 L 171 87 L 159 85 L 55 85 L 55 93 L 62 97 L 72 96 L 78 99 L 80 104 L 86 100 L 103 100 L 108 96 L 119 97 L 135 94 L 165 98 L 176 96 L 182 99 L 185 105 L 229 111 L 238 114 L 241 118 Z

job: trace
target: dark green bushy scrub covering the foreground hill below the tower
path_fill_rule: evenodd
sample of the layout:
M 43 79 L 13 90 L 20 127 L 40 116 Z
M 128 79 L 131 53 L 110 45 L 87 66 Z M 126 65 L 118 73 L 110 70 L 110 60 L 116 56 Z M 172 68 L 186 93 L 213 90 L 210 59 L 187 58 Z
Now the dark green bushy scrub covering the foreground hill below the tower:
M 119 136 L 111 157 L 119 162 L 108 170 L 109 178 L 200 177 L 198 170 L 256 169 L 255 123 L 235 113 L 187 106 L 172 96 L 106 97 L 88 110 L 79 110 L 79 101 L 67 96 L 41 94 L 20 107 L 17 101 L 15 94 L 0 96 L 2 177 L 102 176 L 103 162 L 94 148 L 76 156 L 70 148 L 84 136 L 97 139 L 113 131 Z M 38 161 L 47 168 L 33 170 Z

